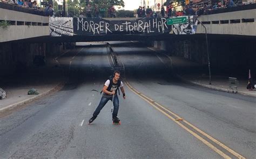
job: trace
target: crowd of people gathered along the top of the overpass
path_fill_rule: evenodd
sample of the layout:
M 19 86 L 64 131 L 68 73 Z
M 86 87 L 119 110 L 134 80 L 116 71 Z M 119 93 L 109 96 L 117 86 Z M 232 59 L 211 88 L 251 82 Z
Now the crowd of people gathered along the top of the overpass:
M 37 1 L 35 0 L 1 0 L 3 2 L 13 3 L 16 5 L 23 6 L 25 8 L 30 8 L 34 10 L 42 10 L 37 5 Z M 193 16 L 193 15 L 207 15 L 208 12 L 216 9 L 223 9 L 229 8 L 235 5 L 242 4 L 242 0 L 224 0 L 224 3 L 218 1 L 217 3 L 211 4 L 210 2 L 204 2 L 199 4 L 188 4 L 184 7 L 183 11 L 176 11 L 173 8 L 172 4 L 164 7 L 161 6 L 161 9 L 158 11 L 154 11 L 150 8 L 150 6 L 139 6 L 137 12 L 134 14 L 138 18 L 143 17 L 176 17 L 176 16 Z M 55 12 L 51 4 L 45 7 L 44 11 L 46 15 L 52 16 Z M 60 15 L 61 16 L 61 15 Z M 64 16 L 64 15 L 63 15 Z M 76 15 L 71 15 L 69 13 L 68 17 L 73 17 Z M 80 13 L 78 17 L 96 17 L 96 18 L 116 18 L 116 10 L 114 6 L 110 6 L 109 8 L 105 9 L 105 6 L 99 7 L 98 5 L 90 5 L 87 4 L 85 10 Z

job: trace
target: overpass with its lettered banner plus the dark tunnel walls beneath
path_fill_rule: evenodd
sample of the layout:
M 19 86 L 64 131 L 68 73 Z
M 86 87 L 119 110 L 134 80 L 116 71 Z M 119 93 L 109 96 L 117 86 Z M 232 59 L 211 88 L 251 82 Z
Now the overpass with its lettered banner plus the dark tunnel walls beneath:
M 9 73 L 21 63 L 32 66 L 38 55 L 57 57 L 70 45 L 66 42 L 86 41 L 141 41 L 207 64 L 204 26 L 213 67 L 256 67 L 256 3 L 211 11 L 198 17 L 201 23 L 186 18 L 187 23 L 172 26 L 166 25 L 166 18 L 52 18 L 0 2 L 0 72 Z

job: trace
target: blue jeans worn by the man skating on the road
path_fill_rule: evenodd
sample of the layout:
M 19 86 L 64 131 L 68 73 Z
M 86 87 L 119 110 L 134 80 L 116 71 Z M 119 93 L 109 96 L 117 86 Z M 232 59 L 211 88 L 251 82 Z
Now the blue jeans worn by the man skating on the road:
M 103 107 L 106 105 L 106 103 L 111 100 L 112 101 L 112 96 L 102 96 L 102 99 L 100 99 L 99 105 L 95 112 L 93 113 L 93 116 L 98 116 L 99 112 L 103 109 Z M 114 95 L 114 110 L 112 113 L 112 117 L 115 118 L 117 117 L 118 109 L 119 109 L 119 99 L 117 95 Z

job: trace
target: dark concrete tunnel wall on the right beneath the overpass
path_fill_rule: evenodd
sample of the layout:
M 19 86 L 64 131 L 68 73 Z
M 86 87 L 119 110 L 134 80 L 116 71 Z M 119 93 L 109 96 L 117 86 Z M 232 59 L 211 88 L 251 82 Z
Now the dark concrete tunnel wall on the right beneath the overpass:
M 204 38 L 172 41 L 152 41 L 155 48 L 164 50 L 170 56 L 184 57 L 203 64 L 207 68 L 207 50 Z M 251 69 L 256 75 L 256 40 L 244 37 L 226 37 L 218 35 L 208 40 L 210 61 L 213 73 L 229 75 L 248 75 Z

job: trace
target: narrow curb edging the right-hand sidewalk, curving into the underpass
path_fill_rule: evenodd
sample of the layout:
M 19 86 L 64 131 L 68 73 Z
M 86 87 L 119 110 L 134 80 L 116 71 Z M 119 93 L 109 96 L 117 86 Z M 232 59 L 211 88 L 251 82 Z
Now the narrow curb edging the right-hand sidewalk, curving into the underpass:
M 155 48 L 150 48 L 150 47 L 147 47 L 155 52 L 158 52 L 157 49 Z M 165 54 L 165 53 L 161 53 L 161 54 Z M 174 69 L 173 69 L 173 66 L 172 66 L 172 57 L 170 57 L 169 55 L 165 54 L 167 57 L 169 57 L 169 59 L 171 60 L 171 69 L 174 73 L 174 76 L 178 77 L 179 79 L 181 79 L 181 81 L 184 81 L 186 83 L 192 83 L 192 84 L 195 84 L 195 85 L 199 85 L 199 86 L 203 86 L 205 88 L 210 88 L 210 89 L 214 89 L 214 90 L 219 90 L 219 91 L 224 91 L 224 92 L 228 92 L 228 89 L 225 89 L 225 88 L 219 88 L 217 86 L 211 86 L 211 85 L 206 85 L 206 84 L 201 84 L 201 83 L 198 83 L 198 82 L 194 82 L 194 81 L 190 81 L 188 79 L 185 79 L 183 77 L 181 77 L 180 75 L 176 74 Z M 256 97 L 256 94 L 255 93 L 250 93 L 250 92 L 243 92 L 243 91 L 237 91 L 237 93 L 239 93 L 240 95 L 245 95 L 245 96 L 251 96 L 251 97 Z

